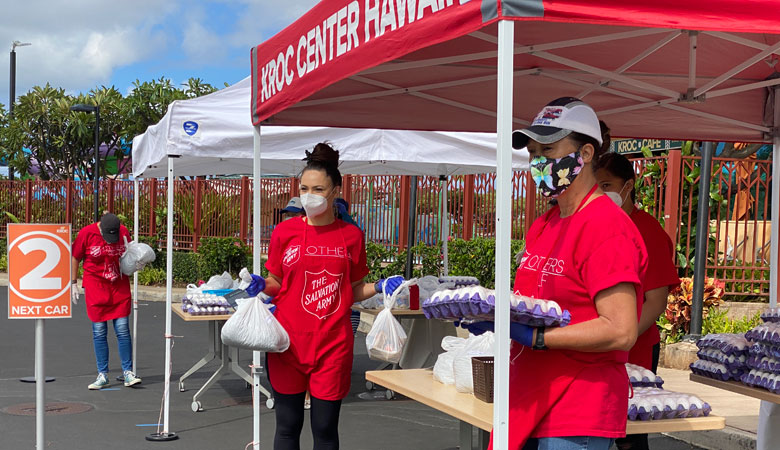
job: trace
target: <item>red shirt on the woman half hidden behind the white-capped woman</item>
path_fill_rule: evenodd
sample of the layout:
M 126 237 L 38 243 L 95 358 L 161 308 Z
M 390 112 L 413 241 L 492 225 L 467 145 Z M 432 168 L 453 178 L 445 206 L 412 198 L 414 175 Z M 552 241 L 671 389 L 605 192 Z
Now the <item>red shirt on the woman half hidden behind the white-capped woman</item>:
M 647 292 L 664 286 L 673 289 L 680 284 L 680 278 L 674 265 L 672 240 L 661 228 L 658 220 L 641 209 L 634 208 L 630 217 L 647 247 L 647 274 L 642 280 L 642 290 Z M 658 327 L 653 325 L 637 338 L 636 344 L 628 353 L 628 362 L 652 370 L 653 346 L 659 342 L 661 342 L 661 334 L 658 332 Z

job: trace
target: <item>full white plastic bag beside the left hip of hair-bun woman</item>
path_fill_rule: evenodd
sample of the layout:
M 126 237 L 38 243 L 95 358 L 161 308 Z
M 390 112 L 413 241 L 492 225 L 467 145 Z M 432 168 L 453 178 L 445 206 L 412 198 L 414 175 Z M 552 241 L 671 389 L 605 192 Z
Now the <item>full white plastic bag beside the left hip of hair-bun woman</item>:
M 231 347 L 261 352 L 281 353 L 287 350 L 290 336 L 268 310 L 269 306 L 258 298 L 241 303 L 222 327 L 222 342 Z

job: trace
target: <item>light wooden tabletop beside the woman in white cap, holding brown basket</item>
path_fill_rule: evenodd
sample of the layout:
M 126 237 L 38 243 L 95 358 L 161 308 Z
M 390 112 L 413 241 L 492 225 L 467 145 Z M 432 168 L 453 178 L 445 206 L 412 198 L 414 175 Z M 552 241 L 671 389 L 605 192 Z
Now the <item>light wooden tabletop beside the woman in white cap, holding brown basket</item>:
M 493 404 L 477 400 L 455 386 L 439 383 L 430 369 L 378 370 L 366 372 L 366 380 L 405 395 L 431 408 L 480 429 L 493 429 Z M 669 433 L 675 431 L 720 430 L 726 419 L 710 415 L 688 419 L 628 421 L 626 434 Z

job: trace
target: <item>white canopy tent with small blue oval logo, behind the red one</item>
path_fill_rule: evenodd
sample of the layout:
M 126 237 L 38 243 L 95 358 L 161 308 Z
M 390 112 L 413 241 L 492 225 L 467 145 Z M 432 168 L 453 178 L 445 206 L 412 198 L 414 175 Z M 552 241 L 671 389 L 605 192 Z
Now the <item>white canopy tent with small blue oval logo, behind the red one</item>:
M 160 122 L 133 139 L 135 192 L 139 177 L 167 176 L 173 180 L 175 176 L 243 173 L 296 176 L 304 167 L 304 151 L 323 141 L 330 142 L 339 150 L 340 169 L 344 174 L 449 176 L 495 171 L 495 133 L 273 126 L 263 128 L 261 171 L 260 161 L 255 158 L 256 129 L 247 120 L 250 117 L 250 95 L 250 79 L 247 78 L 213 94 L 172 103 Z M 254 164 L 250 172 L 249 162 L 252 160 Z M 513 151 L 511 164 L 513 170 L 528 170 L 528 154 Z M 258 176 L 254 177 L 253 187 L 253 203 L 257 206 L 253 216 L 253 242 L 259 242 Z M 175 438 L 175 433 L 169 432 L 173 183 L 168 183 L 167 208 L 164 414 L 159 440 Z M 135 196 L 135 221 L 137 239 L 138 196 Z M 443 231 L 447 232 L 446 229 Z M 253 271 L 259 273 L 257 246 L 254 261 Z M 135 286 L 134 328 L 137 320 L 137 276 Z M 133 363 L 135 365 L 135 357 Z M 260 366 L 259 352 L 254 352 L 253 366 Z M 259 435 L 260 394 L 270 395 L 260 386 L 259 375 L 253 368 L 255 436 Z

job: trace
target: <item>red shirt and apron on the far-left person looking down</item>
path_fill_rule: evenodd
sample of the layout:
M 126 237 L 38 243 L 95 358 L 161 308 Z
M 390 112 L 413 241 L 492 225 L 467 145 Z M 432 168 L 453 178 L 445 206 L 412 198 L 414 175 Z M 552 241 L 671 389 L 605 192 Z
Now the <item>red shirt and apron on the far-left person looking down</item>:
M 130 278 L 119 270 L 119 258 L 125 252 L 130 233 L 119 226 L 119 241 L 109 244 L 97 223 L 79 231 L 73 242 L 73 257 L 84 261 L 84 303 L 93 322 L 105 322 L 130 315 Z

